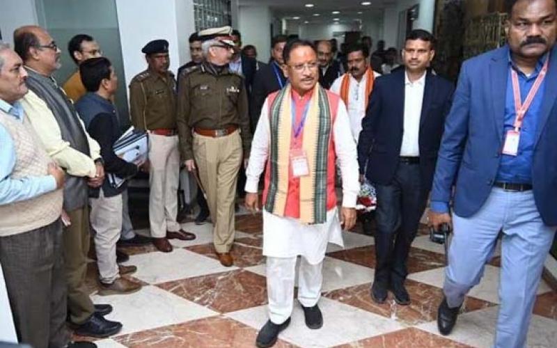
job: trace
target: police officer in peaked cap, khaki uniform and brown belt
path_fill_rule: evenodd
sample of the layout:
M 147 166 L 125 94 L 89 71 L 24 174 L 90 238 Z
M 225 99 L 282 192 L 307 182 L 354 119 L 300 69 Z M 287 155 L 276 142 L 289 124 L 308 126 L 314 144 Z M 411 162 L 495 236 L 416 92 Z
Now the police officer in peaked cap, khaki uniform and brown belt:
M 230 26 L 199 32 L 205 61 L 182 72 L 178 93 L 180 152 L 187 169 L 199 173 L 214 223 L 214 248 L 226 267 L 233 264 L 238 171 L 251 145 L 244 79 L 228 69 L 231 32 Z

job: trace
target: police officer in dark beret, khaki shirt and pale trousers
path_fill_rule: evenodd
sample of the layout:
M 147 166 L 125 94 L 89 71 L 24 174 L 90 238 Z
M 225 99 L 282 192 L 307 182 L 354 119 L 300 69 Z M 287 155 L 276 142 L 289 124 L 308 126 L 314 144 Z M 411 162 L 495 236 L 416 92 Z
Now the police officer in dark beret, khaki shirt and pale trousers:
M 176 81 L 168 71 L 168 42 L 153 40 L 141 52 L 148 63 L 130 83 L 130 117 L 136 129 L 149 134 L 149 223 L 152 243 L 168 253 L 168 239 L 195 239 L 176 221 L 178 213 L 178 130 L 176 129 Z

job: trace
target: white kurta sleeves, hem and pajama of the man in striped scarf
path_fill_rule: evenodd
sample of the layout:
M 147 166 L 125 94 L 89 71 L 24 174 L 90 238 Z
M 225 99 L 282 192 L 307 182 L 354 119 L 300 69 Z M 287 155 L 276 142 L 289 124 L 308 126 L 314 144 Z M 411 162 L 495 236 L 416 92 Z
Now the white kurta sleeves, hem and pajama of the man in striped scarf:
M 343 207 L 355 207 L 359 191 L 356 143 L 350 120 L 342 100 L 338 102 L 336 119 L 331 127 L 334 150 L 343 177 Z M 256 193 L 258 181 L 269 155 L 269 101 L 262 107 L 253 135 L 249 166 L 246 170 L 246 191 Z M 295 266 L 301 255 L 298 300 L 304 307 L 315 306 L 321 296 L 322 264 L 331 242 L 344 246 L 338 209 L 327 212 L 327 221 L 305 225 L 297 219 L 271 214 L 263 209 L 263 255 L 267 256 L 267 294 L 269 319 L 274 324 L 285 322 L 292 313 Z

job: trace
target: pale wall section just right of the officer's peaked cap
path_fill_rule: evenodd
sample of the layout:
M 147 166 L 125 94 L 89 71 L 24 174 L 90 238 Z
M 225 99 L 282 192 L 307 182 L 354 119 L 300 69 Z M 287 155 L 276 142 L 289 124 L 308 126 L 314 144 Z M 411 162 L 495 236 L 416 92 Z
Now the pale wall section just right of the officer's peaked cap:
M 257 48 L 258 61 L 269 61 L 271 23 L 273 17 L 268 6 L 239 6 L 237 29 L 242 33 L 242 45 Z

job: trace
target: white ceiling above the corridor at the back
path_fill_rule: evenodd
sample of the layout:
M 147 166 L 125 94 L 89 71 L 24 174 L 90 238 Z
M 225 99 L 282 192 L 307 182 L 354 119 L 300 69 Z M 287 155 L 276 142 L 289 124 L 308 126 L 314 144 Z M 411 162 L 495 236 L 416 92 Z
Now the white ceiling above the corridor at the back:
M 300 24 L 331 23 L 334 18 L 340 19 L 341 23 L 354 22 L 363 19 L 371 13 L 381 12 L 388 6 L 395 6 L 397 0 L 371 0 L 370 6 L 362 6 L 362 0 L 239 0 L 240 6 L 262 6 L 267 5 L 272 9 L 275 17 L 290 20 L 292 17 L 300 17 Z M 306 8 L 306 3 L 313 3 L 313 8 Z M 332 11 L 340 11 L 332 14 Z M 361 12 L 361 14 L 359 14 Z M 314 16 L 319 14 L 319 16 Z

